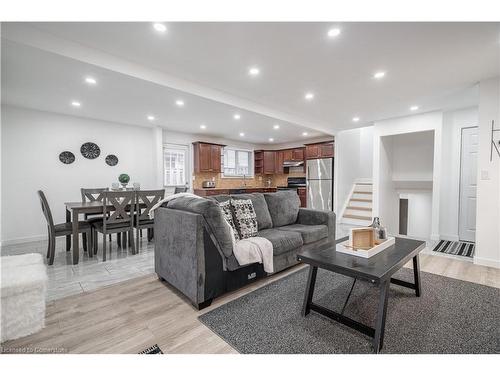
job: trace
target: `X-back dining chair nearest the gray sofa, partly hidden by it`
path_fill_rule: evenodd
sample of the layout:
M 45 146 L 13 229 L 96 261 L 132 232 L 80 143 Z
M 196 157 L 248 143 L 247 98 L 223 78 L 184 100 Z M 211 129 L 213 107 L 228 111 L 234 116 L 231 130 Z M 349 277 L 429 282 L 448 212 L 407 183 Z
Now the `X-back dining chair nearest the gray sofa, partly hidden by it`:
M 135 215 L 135 247 L 139 251 L 139 233 L 142 229 L 148 230 L 148 242 L 153 239 L 154 219 L 149 217 L 149 212 L 155 204 L 165 198 L 165 190 L 138 190 L 136 192 L 136 215 Z

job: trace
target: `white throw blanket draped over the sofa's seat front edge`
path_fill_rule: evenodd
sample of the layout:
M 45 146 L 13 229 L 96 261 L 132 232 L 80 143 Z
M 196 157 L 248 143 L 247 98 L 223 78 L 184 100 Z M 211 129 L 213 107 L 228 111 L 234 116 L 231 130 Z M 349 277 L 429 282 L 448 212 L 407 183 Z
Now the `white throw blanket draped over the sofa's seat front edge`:
M 236 242 L 233 253 L 240 266 L 262 263 L 264 271 L 273 273 L 273 244 L 264 237 L 250 237 Z

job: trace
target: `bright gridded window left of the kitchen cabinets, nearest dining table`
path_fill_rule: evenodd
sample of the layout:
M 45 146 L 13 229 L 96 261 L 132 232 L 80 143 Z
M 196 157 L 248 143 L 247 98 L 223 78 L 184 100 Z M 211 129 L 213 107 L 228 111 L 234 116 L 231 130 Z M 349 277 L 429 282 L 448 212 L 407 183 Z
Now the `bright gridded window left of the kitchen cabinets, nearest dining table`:
M 165 186 L 185 186 L 187 183 L 188 147 L 166 144 L 163 146 L 163 170 Z

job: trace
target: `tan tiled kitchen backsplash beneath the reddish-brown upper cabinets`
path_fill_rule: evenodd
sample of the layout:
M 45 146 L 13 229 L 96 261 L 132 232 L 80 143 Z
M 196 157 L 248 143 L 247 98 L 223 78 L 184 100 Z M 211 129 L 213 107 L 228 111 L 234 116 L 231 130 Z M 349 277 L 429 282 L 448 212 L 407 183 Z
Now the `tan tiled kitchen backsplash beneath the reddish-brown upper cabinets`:
M 267 187 L 267 180 L 271 180 L 271 186 L 286 186 L 288 177 L 304 177 L 303 172 L 291 172 L 289 174 L 276 174 L 276 175 L 257 175 L 255 177 L 247 177 L 245 179 L 246 185 L 251 187 Z M 224 178 L 221 173 L 195 173 L 193 188 L 201 189 L 202 182 L 212 180 L 215 178 L 215 187 L 217 188 L 239 188 L 243 186 L 244 180 L 242 178 Z

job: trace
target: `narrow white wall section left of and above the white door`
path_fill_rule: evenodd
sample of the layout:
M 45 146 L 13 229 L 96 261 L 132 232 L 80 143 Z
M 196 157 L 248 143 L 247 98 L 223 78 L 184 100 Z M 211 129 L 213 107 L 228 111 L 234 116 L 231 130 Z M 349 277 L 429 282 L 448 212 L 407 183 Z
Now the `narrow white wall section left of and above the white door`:
M 445 240 L 458 241 L 460 145 L 462 128 L 478 125 L 478 109 L 466 108 L 443 114 L 441 199 L 439 232 Z

